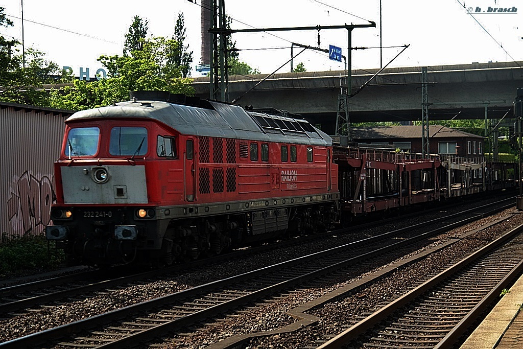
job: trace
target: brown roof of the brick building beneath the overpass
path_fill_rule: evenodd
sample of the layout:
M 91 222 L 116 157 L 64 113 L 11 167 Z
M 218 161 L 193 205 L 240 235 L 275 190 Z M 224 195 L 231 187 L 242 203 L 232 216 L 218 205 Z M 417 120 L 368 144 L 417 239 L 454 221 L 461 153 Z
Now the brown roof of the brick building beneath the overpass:
M 477 136 L 469 132 L 463 132 L 456 129 L 441 125 L 430 125 L 429 126 L 429 137 L 430 138 L 479 138 L 484 137 Z M 376 127 L 355 127 L 353 129 L 353 138 L 355 140 L 363 139 L 396 139 L 396 138 L 422 138 L 422 127 L 421 126 L 376 126 Z

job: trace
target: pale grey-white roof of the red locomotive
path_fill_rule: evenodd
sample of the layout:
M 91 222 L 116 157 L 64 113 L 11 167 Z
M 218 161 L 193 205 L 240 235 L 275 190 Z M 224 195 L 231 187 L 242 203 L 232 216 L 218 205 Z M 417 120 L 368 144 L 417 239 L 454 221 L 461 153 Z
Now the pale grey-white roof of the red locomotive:
M 75 112 L 66 122 L 105 118 L 155 119 L 186 135 L 323 146 L 332 145 L 331 137 L 311 126 L 306 120 L 268 115 L 260 112 L 247 112 L 242 107 L 231 104 L 213 101 L 209 101 L 209 103 L 213 109 L 155 100 L 122 102 L 108 107 Z M 276 124 L 276 127 L 262 127 L 258 121 L 255 121 L 254 116 L 261 116 L 263 119 L 278 119 L 299 123 L 303 127 L 298 127 L 299 131 L 285 129 L 285 127 L 280 128 Z M 258 120 L 260 119 L 258 118 Z

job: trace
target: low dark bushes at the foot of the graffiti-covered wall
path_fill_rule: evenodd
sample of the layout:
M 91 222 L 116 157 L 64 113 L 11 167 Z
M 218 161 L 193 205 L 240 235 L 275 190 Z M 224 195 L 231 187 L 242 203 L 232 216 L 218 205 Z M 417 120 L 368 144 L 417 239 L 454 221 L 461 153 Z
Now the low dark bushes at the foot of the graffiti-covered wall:
M 0 244 L 0 278 L 56 269 L 64 260 L 43 235 L 10 239 Z

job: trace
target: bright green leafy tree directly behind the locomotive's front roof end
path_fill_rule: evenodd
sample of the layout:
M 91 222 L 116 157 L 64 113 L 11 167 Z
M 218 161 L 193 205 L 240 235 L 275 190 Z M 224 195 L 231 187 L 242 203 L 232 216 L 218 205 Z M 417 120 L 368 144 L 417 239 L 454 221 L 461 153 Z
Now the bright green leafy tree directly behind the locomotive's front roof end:
M 168 64 L 178 46 L 173 39 L 154 38 L 145 40 L 142 49 L 130 52 L 130 56 L 102 55 L 98 61 L 107 68 L 107 78 L 90 83 L 75 80 L 74 86 L 51 91 L 51 104 L 83 110 L 128 100 L 129 91 L 140 90 L 194 95 L 191 79 L 181 77 L 180 69 Z

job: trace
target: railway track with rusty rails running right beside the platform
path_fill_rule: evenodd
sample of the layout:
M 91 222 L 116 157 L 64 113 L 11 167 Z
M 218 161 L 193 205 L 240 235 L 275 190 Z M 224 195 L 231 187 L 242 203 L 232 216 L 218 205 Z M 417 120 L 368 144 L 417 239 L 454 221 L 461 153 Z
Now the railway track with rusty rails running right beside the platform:
M 456 347 L 477 317 L 522 272 L 523 226 L 519 226 L 319 348 Z

